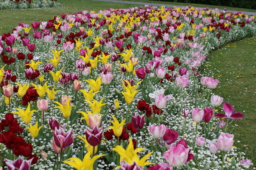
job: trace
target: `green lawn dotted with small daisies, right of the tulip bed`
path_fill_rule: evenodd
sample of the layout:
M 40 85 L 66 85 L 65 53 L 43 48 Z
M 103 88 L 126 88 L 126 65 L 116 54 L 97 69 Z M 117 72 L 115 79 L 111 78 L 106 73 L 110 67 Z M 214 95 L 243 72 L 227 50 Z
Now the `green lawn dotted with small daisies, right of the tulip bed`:
M 244 114 L 234 121 L 234 145 L 256 164 L 256 38 L 230 43 L 209 56 L 202 73 L 220 80 L 214 92 Z M 239 142 L 240 141 L 240 142 Z

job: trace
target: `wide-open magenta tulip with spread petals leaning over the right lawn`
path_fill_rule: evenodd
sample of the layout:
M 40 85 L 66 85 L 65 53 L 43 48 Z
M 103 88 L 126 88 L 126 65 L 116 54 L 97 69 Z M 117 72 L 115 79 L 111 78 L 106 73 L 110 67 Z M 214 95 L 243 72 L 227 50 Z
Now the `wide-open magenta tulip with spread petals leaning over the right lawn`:
M 225 111 L 225 115 L 221 113 L 217 113 L 215 117 L 218 118 L 233 118 L 233 119 L 240 119 L 243 118 L 244 115 L 240 112 L 235 113 L 235 108 L 230 103 L 223 103 L 223 110 Z

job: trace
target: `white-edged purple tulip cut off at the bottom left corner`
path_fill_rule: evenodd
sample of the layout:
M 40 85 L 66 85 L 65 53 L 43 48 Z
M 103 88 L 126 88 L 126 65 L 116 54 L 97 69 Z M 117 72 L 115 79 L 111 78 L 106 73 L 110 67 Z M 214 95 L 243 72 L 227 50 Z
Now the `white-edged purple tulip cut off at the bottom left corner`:
M 29 160 L 24 160 L 21 157 L 19 157 L 16 160 L 8 160 L 8 159 L 4 159 L 4 162 L 6 163 L 6 166 L 10 169 L 10 170 L 15 170 L 15 169 L 19 169 L 19 170 L 29 170 L 30 166 L 31 166 L 31 162 L 32 159 Z

